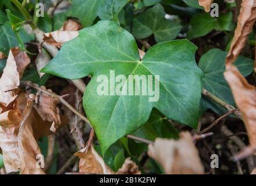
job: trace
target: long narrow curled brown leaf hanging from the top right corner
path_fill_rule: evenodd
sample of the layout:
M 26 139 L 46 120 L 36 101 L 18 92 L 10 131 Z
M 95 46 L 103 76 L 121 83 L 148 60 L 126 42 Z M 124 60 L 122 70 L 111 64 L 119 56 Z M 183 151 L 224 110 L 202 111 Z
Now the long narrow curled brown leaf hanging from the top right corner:
M 253 30 L 256 21 L 256 1 L 243 0 L 241 3 L 240 14 L 237 19 L 237 27 L 234 32 L 232 44 L 226 57 L 226 69 L 237 59 L 239 53 L 246 45 L 248 35 Z

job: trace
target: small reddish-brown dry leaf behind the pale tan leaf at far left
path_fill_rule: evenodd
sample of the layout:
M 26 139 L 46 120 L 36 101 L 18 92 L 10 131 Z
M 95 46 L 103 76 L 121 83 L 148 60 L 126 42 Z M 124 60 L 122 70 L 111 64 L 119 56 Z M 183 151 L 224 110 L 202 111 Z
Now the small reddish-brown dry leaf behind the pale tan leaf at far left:
M 26 52 L 20 51 L 19 47 L 12 48 L 11 51 L 17 65 L 17 71 L 19 72 L 20 78 L 22 78 L 24 70 L 30 63 L 30 58 Z

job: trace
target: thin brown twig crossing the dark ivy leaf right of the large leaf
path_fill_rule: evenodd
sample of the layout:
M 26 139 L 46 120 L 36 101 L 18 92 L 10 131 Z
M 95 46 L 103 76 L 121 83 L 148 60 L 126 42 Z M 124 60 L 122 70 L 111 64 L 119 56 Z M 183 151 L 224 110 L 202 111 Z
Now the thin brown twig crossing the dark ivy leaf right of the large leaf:
M 229 105 L 228 103 L 226 103 L 225 101 L 223 101 L 222 99 L 218 98 L 217 96 L 213 95 L 211 92 L 205 90 L 204 88 L 202 89 L 202 95 L 207 96 L 208 98 L 212 99 L 212 101 L 218 103 L 219 105 L 221 105 L 223 108 L 227 109 L 227 111 L 231 111 L 234 110 L 236 108 L 234 108 L 232 105 Z M 236 112 L 234 112 L 234 115 L 236 117 L 238 117 L 239 119 L 242 120 L 241 117 L 241 112 L 237 109 Z

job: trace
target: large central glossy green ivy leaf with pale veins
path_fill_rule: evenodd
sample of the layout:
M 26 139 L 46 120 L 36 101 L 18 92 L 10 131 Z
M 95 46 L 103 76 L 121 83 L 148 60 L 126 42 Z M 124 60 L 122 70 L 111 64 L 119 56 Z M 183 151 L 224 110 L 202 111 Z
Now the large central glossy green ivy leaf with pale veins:
M 63 78 L 92 76 L 83 106 L 104 153 L 116 140 L 143 126 L 152 108 L 169 119 L 197 127 L 202 71 L 195 63 L 196 49 L 188 40 L 163 42 L 150 48 L 140 61 L 133 36 L 114 22 L 100 21 L 66 42 L 42 72 Z M 159 80 L 159 100 L 150 102 L 148 94 L 128 96 L 122 91 L 112 96 L 97 94 L 102 85 L 97 78 L 102 75 L 109 83 L 110 70 L 115 70 L 115 77 L 123 74 L 127 79 L 136 74 Z

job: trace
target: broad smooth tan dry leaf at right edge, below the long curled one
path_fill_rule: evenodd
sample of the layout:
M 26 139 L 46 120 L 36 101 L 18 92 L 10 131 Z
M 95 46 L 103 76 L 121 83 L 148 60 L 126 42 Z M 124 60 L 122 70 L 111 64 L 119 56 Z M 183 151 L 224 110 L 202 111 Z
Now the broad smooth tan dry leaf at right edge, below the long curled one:
M 234 101 L 242 113 L 250 144 L 256 146 L 256 89 L 248 84 L 236 66 L 231 65 L 225 71 L 229 87 L 232 90 Z

